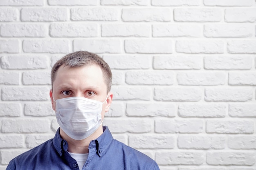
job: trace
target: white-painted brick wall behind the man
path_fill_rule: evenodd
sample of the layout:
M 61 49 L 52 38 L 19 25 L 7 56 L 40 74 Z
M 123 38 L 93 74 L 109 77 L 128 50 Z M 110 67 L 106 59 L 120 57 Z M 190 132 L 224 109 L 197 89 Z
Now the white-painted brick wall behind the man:
M 50 70 L 98 53 L 103 124 L 161 170 L 256 170 L 256 0 L 0 0 L 0 170 L 54 136 Z

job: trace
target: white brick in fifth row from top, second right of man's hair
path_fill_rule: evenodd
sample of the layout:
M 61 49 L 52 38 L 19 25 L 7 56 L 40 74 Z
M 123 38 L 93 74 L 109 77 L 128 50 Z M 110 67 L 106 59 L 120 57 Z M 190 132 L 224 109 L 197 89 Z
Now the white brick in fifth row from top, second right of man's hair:
M 201 69 L 200 56 L 154 56 L 154 69 Z

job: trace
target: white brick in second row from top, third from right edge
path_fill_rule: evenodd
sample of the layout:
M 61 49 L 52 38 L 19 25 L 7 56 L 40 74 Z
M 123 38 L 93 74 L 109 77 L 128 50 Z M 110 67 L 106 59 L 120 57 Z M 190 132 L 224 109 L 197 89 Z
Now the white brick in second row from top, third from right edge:
M 126 8 L 121 15 L 124 22 L 168 22 L 171 17 L 172 13 L 168 8 Z

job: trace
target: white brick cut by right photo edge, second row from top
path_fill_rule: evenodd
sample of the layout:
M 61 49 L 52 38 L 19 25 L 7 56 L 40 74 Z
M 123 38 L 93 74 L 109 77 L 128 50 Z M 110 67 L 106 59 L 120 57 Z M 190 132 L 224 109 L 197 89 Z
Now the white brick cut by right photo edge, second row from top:
M 256 22 L 256 8 L 225 9 L 226 22 Z

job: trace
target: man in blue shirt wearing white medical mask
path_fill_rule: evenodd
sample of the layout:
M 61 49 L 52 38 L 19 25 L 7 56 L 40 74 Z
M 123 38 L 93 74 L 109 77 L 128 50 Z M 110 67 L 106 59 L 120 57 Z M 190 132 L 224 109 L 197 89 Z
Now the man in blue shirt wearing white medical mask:
M 141 152 L 102 126 L 112 103 L 108 64 L 86 51 L 70 53 L 51 73 L 52 108 L 60 128 L 53 139 L 12 159 L 7 170 L 159 170 Z

